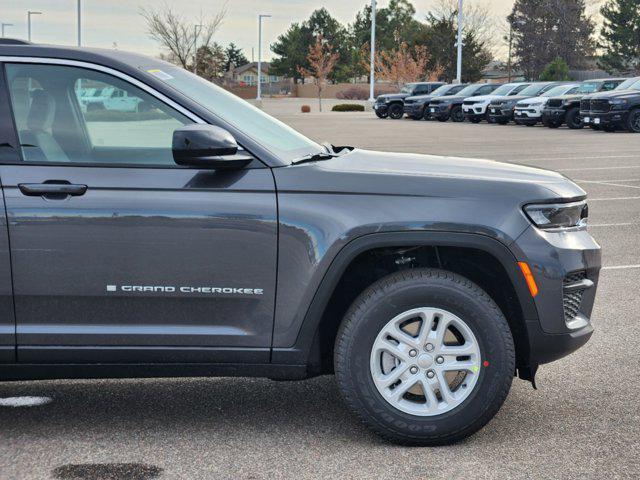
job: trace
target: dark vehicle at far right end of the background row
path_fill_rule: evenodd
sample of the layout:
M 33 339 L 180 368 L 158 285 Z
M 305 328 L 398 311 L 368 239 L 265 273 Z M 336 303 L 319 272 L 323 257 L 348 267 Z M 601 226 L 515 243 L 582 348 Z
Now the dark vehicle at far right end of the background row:
M 640 77 L 625 80 L 613 91 L 584 97 L 580 117 L 584 125 L 596 130 L 640 133 Z

